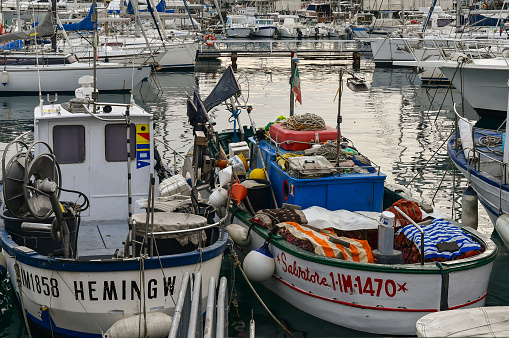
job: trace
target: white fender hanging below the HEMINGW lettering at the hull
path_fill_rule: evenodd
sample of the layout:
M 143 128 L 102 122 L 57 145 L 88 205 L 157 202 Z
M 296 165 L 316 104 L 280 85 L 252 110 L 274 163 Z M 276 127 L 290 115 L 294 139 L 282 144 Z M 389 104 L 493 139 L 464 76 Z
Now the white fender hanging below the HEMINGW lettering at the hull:
M 140 318 L 141 316 L 141 318 Z M 141 320 L 141 325 L 140 325 Z M 120 319 L 103 335 L 104 338 L 168 337 L 172 317 L 162 312 L 147 313 L 147 334 L 145 334 L 144 316 L 139 314 Z

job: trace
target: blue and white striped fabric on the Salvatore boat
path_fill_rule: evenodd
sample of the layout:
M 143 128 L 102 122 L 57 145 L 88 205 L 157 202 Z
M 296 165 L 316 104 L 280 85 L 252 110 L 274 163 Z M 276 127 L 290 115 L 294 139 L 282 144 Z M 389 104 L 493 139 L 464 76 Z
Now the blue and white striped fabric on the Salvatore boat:
M 479 243 L 474 242 L 472 237 L 465 234 L 463 230 L 452 225 L 451 223 L 443 220 L 443 219 L 435 219 L 433 223 L 421 226 L 422 230 L 424 230 L 424 257 L 425 259 L 431 258 L 445 258 L 451 259 L 453 257 L 459 256 L 462 253 L 471 251 L 471 250 L 481 250 L 481 246 Z M 421 232 L 417 230 L 413 225 L 407 225 L 396 233 L 399 235 L 403 233 L 406 238 L 415 243 L 419 252 L 421 251 Z M 450 251 L 442 251 L 439 252 L 437 249 L 438 243 L 444 242 L 453 242 L 459 246 L 458 251 L 450 252 Z

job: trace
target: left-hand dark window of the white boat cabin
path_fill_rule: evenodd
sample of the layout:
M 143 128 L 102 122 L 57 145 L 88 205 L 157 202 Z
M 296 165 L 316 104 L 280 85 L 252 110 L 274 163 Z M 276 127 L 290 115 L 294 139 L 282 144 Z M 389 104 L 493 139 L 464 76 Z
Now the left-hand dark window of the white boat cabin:
M 54 126 L 53 151 L 60 164 L 85 162 L 85 127 Z

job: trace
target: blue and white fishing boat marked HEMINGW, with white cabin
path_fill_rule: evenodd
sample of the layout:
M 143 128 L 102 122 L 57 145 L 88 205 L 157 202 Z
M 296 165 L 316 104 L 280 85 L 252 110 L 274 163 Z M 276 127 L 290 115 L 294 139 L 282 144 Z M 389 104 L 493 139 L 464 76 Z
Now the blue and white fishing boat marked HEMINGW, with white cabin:
M 154 179 L 150 113 L 98 103 L 82 82 L 69 102 L 37 106 L 35 142 L 17 139 L 3 155 L 0 254 L 26 320 L 48 334 L 167 335 L 183 274 L 219 280 L 224 219 L 193 203 L 183 178 Z M 183 193 L 160 199 L 162 186 Z

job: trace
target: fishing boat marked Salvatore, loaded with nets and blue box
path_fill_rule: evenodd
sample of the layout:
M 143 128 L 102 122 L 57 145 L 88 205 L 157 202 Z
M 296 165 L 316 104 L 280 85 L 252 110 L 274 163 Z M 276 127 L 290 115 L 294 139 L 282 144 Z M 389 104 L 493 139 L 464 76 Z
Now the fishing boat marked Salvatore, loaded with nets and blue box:
M 257 130 L 249 148 L 230 144 L 230 158 L 249 161 L 247 197 L 232 197 L 244 208 L 232 206 L 228 227 L 247 276 L 312 316 L 383 335 L 414 335 L 427 313 L 483 306 L 493 241 L 387 189 L 339 128 L 305 114 Z M 386 208 L 394 213 L 382 218 Z

